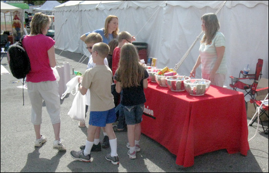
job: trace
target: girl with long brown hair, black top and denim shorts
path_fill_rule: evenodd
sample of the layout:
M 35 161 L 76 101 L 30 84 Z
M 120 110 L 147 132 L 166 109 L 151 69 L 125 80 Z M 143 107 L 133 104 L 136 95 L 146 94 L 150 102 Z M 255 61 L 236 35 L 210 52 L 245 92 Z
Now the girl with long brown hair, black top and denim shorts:
M 115 72 L 114 80 L 116 91 L 122 91 L 120 103 L 123 106 L 125 120 L 128 128 L 128 143 L 130 159 L 136 158 L 140 151 L 139 140 L 141 136 L 142 114 L 146 97 L 144 88 L 148 88 L 149 74 L 141 64 L 136 47 L 127 43 L 121 47 L 119 67 Z

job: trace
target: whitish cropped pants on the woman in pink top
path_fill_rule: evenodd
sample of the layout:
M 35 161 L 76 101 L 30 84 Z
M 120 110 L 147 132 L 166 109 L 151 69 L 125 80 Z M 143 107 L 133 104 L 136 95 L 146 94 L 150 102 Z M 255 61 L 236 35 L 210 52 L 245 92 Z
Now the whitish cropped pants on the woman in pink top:
M 28 82 L 27 90 L 32 104 L 31 122 L 42 123 L 42 106 L 45 101 L 52 124 L 60 122 L 60 96 L 57 81 Z

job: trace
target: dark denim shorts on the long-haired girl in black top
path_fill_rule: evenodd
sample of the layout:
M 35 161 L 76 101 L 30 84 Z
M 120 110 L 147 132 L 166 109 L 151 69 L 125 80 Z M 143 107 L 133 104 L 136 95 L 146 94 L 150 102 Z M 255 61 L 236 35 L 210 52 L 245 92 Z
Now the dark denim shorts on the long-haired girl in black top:
M 134 106 L 122 106 L 125 114 L 125 122 L 127 125 L 135 125 L 142 121 L 144 104 Z

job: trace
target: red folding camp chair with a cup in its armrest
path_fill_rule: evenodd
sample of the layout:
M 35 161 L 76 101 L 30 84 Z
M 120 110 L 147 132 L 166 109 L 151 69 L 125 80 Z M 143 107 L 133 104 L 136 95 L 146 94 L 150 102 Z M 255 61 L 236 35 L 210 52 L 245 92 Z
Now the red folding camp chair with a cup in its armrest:
M 259 77 L 261 78 L 261 76 L 262 76 L 262 73 L 261 73 L 262 65 L 263 65 L 263 59 L 258 59 L 255 74 L 247 74 L 247 75 L 245 75 L 243 70 L 241 70 L 239 72 L 239 78 L 235 78 L 233 76 L 230 76 L 230 78 L 232 79 L 232 83 L 230 84 L 230 87 L 232 87 L 235 91 L 237 89 L 245 90 L 246 94 L 244 96 L 249 94 L 254 99 L 253 96 L 255 94 L 253 94 L 251 92 L 253 91 L 252 88 L 256 89 L 256 87 L 257 87 L 258 82 L 255 82 L 255 81 L 258 81 Z M 241 75 L 243 75 L 243 78 L 240 78 Z M 246 79 L 254 80 L 253 84 L 251 84 L 251 85 L 250 84 L 245 84 L 245 83 L 240 81 L 240 80 L 246 80 Z

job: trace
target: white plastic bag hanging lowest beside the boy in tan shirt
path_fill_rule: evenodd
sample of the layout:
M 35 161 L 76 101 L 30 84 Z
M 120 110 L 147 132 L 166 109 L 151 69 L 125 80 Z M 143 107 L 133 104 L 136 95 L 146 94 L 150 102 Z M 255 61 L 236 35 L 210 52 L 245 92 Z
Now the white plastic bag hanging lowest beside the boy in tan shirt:
M 76 93 L 72 106 L 67 113 L 72 119 L 85 123 L 86 95 L 82 95 L 80 91 Z

